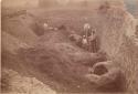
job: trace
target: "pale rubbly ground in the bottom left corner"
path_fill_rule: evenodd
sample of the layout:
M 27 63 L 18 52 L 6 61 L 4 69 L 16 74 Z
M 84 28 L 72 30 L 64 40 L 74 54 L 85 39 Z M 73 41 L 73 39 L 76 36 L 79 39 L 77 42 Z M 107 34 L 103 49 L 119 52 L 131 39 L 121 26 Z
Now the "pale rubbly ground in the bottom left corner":
M 1 88 L 2 93 L 8 94 L 56 94 L 55 91 L 35 77 L 22 76 L 8 69 L 2 69 Z

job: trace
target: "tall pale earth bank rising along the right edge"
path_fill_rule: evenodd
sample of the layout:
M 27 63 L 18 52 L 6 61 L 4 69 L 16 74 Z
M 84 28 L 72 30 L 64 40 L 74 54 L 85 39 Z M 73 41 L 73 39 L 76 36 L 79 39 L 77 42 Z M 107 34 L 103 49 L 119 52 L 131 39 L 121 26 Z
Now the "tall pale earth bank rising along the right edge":
M 102 10 L 100 10 L 102 11 Z M 102 49 L 119 63 L 127 79 L 128 91 L 136 92 L 137 85 L 137 46 L 132 41 L 136 20 L 131 14 L 120 8 L 109 8 L 99 12 L 99 31 Z M 135 70 L 134 70 L 135 69 Z M 134 74 L 135 73 L 135 74 Z M 130 75 L 132 77 L 130 77 Z

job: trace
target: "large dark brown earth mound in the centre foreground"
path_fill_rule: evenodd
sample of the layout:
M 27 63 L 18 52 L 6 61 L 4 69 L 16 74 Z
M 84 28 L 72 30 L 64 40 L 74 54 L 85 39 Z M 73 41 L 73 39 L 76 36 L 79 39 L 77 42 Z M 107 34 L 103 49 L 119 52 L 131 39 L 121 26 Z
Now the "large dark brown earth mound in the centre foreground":
M 67 43 L 53 43 L 42 48 L 21 50 L 20 53 L 23 54 L 20 58 L 25 60 L 28 67 L 32 65 L 38 72 L 44 73 L 50 80 L 59 83 L 57 86 L 62 90 L 52 85 L 56 91 L 91 92 L 95 90 L 93 84 L 84 77 L 89 67 L 84 64 L 91 63 L 93 65 L 96 60 L 99 60 L 98 56 L 94 58 L 94 54 Z

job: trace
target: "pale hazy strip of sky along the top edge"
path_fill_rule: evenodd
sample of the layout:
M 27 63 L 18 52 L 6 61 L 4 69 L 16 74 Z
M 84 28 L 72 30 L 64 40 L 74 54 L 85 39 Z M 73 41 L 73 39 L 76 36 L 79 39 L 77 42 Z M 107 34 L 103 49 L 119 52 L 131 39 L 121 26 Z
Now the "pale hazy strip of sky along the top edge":
M 1 0 L 0 0 L 1 1 Z M 137 6 L 138 7 L 138 0 L 13 0 L 11 2 L 11 0 L 3 0 L 2 1 L 2 6 L 15 6 L 15 4 L 39 4 L 40 2 L 44 2 L 44 3 L 55 3 L 55 4 L 68 4 L 68 3 L 79 3 L 79 2 L 86 2 L 86 3 L 100 3 L 103 1 L 109 1 L 109 2 L 125 2 L 125 4 L 129 4 L 129 6 Z

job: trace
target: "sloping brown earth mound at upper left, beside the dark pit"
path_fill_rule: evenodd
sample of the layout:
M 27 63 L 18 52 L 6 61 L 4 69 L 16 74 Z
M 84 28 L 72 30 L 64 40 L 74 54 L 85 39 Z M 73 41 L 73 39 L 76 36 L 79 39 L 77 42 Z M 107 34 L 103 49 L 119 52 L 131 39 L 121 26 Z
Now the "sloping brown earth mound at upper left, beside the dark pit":
M 32 45 L 38 40 L 38 36 L 30 28 L 34 22 L 33 20 L 34 19 L 28 14 L 15 15 L 13 18 L 2 18 L 2 31 Z

